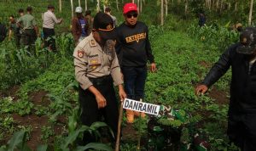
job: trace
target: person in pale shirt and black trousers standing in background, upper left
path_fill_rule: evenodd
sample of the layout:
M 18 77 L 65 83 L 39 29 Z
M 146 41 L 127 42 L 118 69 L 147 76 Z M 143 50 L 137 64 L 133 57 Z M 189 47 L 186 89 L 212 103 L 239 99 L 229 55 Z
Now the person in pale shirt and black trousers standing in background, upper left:
M 57 19 L 55 14 L 55 7 L 48 5 L 48 11 L 43 15 L 43 34 L 44 34 L 44 47 L 55 51 L 55 24 L 61 24 L 62 19 Z

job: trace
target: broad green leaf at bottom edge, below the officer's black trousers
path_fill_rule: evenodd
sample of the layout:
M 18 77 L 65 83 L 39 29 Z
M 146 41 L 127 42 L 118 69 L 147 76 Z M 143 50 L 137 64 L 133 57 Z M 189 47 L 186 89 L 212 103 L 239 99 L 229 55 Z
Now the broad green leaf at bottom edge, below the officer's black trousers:
M 74 151 L 84 151 L 85 149 L 93 148 L 96 150 L 106 150 L 106 151 L 113 151 L 113 148 L 110 148 L 108 145 L 103 143 L 88 143 L 84 147 L 78 147 Z

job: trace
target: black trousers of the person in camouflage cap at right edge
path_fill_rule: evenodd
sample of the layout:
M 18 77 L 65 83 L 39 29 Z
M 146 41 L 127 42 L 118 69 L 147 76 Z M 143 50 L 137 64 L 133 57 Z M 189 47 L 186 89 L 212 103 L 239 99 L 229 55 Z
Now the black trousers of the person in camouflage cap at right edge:
M 241 151 L 256 151 L 256 114 L 230 112 L 228 136 Z

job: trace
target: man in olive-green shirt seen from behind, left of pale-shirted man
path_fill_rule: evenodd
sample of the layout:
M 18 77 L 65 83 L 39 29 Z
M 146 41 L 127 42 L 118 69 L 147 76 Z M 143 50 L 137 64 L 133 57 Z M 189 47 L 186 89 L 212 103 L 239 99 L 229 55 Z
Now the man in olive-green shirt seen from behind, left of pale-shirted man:
M 37 36 L 39 36 L 38 25 L 34 16 L 32 16 L 32 7 L 27 7 L 26 12 L 27 14 L 17 20 L 17 25 L 21 28 L 22 34 L 24 34 L 22 42 L 26 46 L 31 46 L 36 42 Z

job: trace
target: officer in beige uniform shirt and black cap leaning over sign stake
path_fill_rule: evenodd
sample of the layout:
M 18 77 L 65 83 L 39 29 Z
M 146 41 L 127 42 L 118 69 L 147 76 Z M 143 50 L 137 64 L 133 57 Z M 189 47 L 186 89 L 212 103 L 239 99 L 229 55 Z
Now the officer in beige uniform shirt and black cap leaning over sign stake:
M 75 76 L 79 81 L 80 120 L 90 126 L 103 115 L 116 136 L 119 112 L 113 84 L 119 87 L 121 100 L 126 94 L 112 40 L 115 39 L 114 32 L 111 17 L 102 12 L 96 14 L 92 33 L 79 42 L 73 57 Z M 84 143 L 94 141 L 89 133 L 84 134 Z

